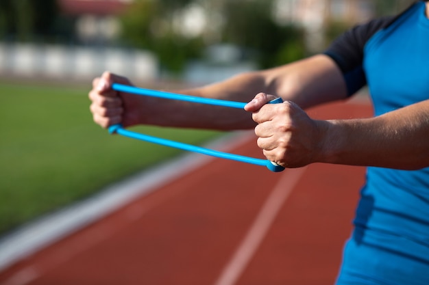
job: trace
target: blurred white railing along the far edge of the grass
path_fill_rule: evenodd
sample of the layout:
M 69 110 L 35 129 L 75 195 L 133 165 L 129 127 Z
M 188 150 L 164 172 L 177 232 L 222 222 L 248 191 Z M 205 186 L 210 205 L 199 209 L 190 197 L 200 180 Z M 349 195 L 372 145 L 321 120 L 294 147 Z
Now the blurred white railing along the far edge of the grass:
M 139 50 L 0 43 L 0 74 L 88 79 L 104 70 L 153 80 L 158 77 L 158 62 L 151 53 Z

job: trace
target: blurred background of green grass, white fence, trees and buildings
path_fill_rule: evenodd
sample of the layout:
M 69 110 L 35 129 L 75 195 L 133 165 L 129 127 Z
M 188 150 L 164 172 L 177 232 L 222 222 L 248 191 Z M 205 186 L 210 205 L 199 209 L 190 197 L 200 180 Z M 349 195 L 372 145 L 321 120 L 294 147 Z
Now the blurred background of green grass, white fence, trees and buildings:
M 173 155 L 109 137 L 87 98 L 104 70 L 168 89 L 323 51 L 406 0 L 0 0 L 0 237 Z M 144 127 L 201 144 L 217 132 Z

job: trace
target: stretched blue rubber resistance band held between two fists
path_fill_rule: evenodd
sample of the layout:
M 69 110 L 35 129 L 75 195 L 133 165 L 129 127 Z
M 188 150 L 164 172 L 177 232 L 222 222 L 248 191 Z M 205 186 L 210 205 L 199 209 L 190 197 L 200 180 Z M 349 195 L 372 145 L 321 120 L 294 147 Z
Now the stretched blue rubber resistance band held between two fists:
M 211 98 L 188 96 L 184 94 L 162 92 L 157 90 L 149 90 L 149 89 L 143 89 L 143 88 L 134 87 L 130 85 L 122 85 L 119 83 L 114 83 L 112 85 L 112 89 L 120 92 L 138 94 L 143 96 L 152 96 L 152 97 L 166 98 L 171 100 L 182 100 L 182 101 L 188 101 L 193 103 L 217 105 L 217 106 L 230 107 L 230 108 L 236 108 L 236 109 L 244 109 L 246 105 L 246 103 L 241 103 L 241 102 L 217 100 L 217 99 L 211 99 Z M 271 100 L 269 104 L 277 104 L 282 102 L 283 102 L 282 98 L 276 98 L 274 100 Z M 273 163 L 272 161 L 269 161 L 267 159 L 256 159 L 253 157 L 245 157 L 243 155 L 231 154 L 228 152 L 220 152 L 218 150 L 211 150 L 209 148 L 201 148 L 200 146 L 184 144 L 179 141 L 171 141 L 169 139 L 162 139 L 160 137 L 153 137 L 151 135 L 144 135 L 133 131 L 127 131 L 125 128 L 123 128 L 121 124 L 115 124 L 110 126 L 109 133 L 117 133 L 119 135 L 123 135 L 124 137 L 130 137 L 132 139 L 140 139 L 142 141 L 147 141 L 153 144 L 160 144 L 162 146 L 169 146 L 171 148 L 178 148 L 180 150 L 198 152 L 201 154 L 210 155 L 212 157 L 219 157 L 221 159 L 230 159 L 233 161 L 240 161 L 240 162 L 250 163 L 254 165 L 262 165 L 267 167 L 272 172 L 281 172 L 284 170 L 284 167 L 276 163 Z

